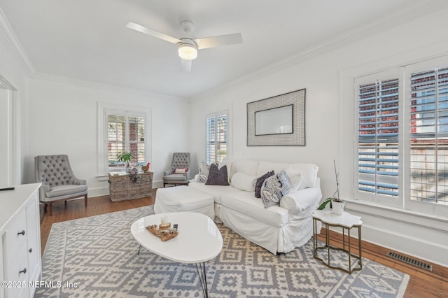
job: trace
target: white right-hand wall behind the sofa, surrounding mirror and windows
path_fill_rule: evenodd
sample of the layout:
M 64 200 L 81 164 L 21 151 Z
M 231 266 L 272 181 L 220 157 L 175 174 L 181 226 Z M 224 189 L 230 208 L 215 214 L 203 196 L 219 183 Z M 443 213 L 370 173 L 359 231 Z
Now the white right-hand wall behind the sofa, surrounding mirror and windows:
M 362 217 L 364 240 L 448 266 L 447 217 L 374 206 L 353 197 L 353 77 L 448 54 L 447 13 L 440 10 L 370 37 L 317 49 L 321 54 L 297 56 L 191 99 L 191 130 L 197 132 L 191 135 L 191 151 L 198 152 L 197 166 L 204 159 L 204 115 L 228 109 L 230 157 L 315 163 L 324 198 L 335 192 L 335 159 L 340 193 L 348 201 L 347 211 Z M 302 88 L 307 90 L 306 146 L 246 146 L 246 104 Z

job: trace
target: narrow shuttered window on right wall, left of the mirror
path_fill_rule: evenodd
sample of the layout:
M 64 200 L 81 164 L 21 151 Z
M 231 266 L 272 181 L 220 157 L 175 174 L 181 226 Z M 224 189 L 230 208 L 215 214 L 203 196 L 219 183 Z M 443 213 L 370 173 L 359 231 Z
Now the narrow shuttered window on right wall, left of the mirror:
M 221 162 L 228 153 L 228 115 L 214 113 L 207 116 L 207 164 L 218 160 Z

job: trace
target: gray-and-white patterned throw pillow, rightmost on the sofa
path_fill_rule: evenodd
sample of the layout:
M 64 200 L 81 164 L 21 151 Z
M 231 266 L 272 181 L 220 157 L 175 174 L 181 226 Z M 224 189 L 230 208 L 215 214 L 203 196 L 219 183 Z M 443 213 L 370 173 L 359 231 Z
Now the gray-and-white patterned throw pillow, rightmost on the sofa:
M 261 199 L 265 208 L 279 204 L 281 197 L 287 194 L 289 189 L 289 178 L 284 170 L 267 178 L 261 186 Z

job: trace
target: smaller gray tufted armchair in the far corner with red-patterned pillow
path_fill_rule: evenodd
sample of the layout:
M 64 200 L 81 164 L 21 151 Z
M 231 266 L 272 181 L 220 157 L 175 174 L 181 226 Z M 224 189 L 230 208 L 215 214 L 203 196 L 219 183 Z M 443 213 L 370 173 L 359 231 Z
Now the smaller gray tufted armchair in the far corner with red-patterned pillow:
M 188 185 L 190 179 L 190 153 L 173 153 L 171 169 L 165 171 L 163 176 L 163 187 L 167 184 Z

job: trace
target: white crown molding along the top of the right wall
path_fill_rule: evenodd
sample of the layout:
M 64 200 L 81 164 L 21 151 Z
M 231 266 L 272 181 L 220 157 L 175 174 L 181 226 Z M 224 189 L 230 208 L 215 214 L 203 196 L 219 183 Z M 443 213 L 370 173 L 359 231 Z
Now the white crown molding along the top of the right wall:
M 416 20 L 419 17 L 430 15 L 431 13 L 435 13 L 438 10 L 447 7 L 448 7 L 448 1 L 446 0 L 434 0 L 431 1 L 430 4 L 424 1 L 420 1 L 419 3 L 416 3 L 412 7 L 407 6 L 402 8 L 402 10 L 400 10 L 400 12 L 398 13 L 387 15 L 386 17 L 383 17 L 381 19 L 377 19 L 375 22 L 370 22 L 365 26 L 356 27 L 354 29 L 346 31 L 344 34 L 339 34 L 334 38 L 328 39 L 327 41 L 306 48 L 300 52 L 295 53 L 294 55 L 290 55 L 284 59 L 269 64 L 265 67 L 262 67 L 261 69 L 258 69 L 258 71 L 254 71 L 252 73 L 247 74 L 246 76 L 237 78 L 236 80 L 233 80 L 230 83 L 208 90 L 206 92 L 203 92 L 202 94 L 197 94 L 194 97 L 190 97 L 189 100 L 200 101 L 216 92 L 230 89 L 231 87 L 235 87 L 235 85 L 242 85 L 250 80 L 255 80 L 256 78 L 265 76 L 267 73 L 282 71 L 291 66 L 299 64 L 300 62 L 304 62 L 307 61 L 308 59 L 318 57 L 320 55 L 325 54 L 326 52 L 330 52 L 337 48 L 342 48 L 342 46 L 344 45 L 349 45 L 351 43 L 361 41 L 370 36 L 374 36 L 375 34 L 387 31 L 389 29 L 392 29 L 393 27 L 398 27 L 412 20 Z

